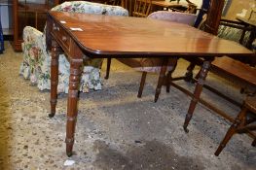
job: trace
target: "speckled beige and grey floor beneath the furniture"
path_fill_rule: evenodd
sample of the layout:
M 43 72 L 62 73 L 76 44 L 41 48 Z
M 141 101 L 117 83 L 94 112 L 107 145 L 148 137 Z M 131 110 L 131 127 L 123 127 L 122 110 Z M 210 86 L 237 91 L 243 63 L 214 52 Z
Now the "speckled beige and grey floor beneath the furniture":
M 21 53 L 6 43 L 0 55 L 0 169 L 255 169 L 256 149 L 247 135 L 236 135 L 216 157 L 213 153 L 230 123 L 201 104 L 189 125 L 182 124 L 190 98 L 171 87 L 153 102 L 156 75 L 149 75 L 141 99 L 140 74 L 114 60 L 103 89 L 80 95 L 74 155 L 65 154 L 66 94 L 58 97 L 49 119 L 50 93 L 18 76 Z M 179 62 L 175 75 L 187 63 Z M 105 74 L 105 63 L 102 69 Z M 242 99 L 238 87 L 209 75 L 207 83 Z M 193 89 L 193 85 L 180 82 Z M 230 114 L 239 108 L 203 91 L 202 96 Z M 73 165 L 65 166 L 71 160 Z

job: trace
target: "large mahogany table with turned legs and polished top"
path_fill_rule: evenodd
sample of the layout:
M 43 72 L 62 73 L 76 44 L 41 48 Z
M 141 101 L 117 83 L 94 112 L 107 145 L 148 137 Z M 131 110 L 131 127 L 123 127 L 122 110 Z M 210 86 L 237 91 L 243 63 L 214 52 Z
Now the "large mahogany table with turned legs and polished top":
M 184 129 L 199 101 L 210 62 L 215 56 L 251 56 L 235 42 L 220 39 L 194 27 L 143 17 L 110 17 L 49 12 L 47 47 L 52 49 L 51 114 L 55 116 L 58 54 L 64 51 L 70 62 L 66 122 L 66 153 L 72 155 L 77 119 L 78 88 L 83 61 L 107 57 L 204 58 L 200 79 L 191 100 Z M 165 67 L 163 67 L 165 69 Z

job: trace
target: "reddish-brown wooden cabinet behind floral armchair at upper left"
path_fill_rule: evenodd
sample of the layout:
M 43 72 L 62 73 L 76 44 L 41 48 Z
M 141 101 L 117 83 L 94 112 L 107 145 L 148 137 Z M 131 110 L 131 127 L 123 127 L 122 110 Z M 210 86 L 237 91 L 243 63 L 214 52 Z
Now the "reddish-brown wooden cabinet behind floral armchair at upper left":
M 25 26 L 33 26 L 43 31 L 46 23 L 46 13 L 59 3 L 59 0 L 45 0 L 45 3 L 34 1 L 13 1 L 14 41 L 15 51 L 21 51 L 22 31 Z

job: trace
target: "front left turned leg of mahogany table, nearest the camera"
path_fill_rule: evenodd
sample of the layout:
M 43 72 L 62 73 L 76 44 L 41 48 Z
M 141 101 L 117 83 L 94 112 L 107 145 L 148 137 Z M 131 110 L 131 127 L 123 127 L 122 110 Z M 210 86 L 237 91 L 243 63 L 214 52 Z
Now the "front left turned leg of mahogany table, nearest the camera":
M 66 154 L 72 155 L 77 120 L 78 91 L 83 59 L 71 59 L 66 121 Z

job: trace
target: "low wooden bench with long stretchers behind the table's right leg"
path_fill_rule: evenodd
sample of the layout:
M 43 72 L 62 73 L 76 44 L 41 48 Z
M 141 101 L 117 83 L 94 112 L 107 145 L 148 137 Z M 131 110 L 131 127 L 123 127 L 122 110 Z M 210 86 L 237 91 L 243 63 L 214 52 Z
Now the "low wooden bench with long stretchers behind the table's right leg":
M 244 58 L 244 57 L 243 57 Z M 190 60 L 190 59 L 189 59 Z M 202 65 L 203 60 L 200 58 L 196 58 L 191 60 L 196 65 Z M 236 59 L 233 59 L 228 56 L 223 56 L 219 58 L 215 58 L 211 62 L 211 66 L 209 68 L 209 72 L 216 74 L 224 79 L 232 80 L 232 82 L 236 85 L 239 85 L 244 89 L 247 94 L 255 95 L 256 94 L 256 68 L 251 67 L 247 64 L 244 64 Z M 187 75 L 188 76 L 188 75 Z M 197 82 L 199 75 L 196 76 L 196 79 L 192 78 L 173 78 L 172 81 L 178 81 L 180 79 L 187 79 L 187 81 Z M 189 90 L 181 87 L 180 85 L 174 84 L 173 82 L 171 85 L 177 87 L 181 91 L 185 92 L 189 96 L 193 96 Z M 208 90 L 214 92 L 215 94 L 221 96 L 222 98 L 226 99 L 227 101 L 231 102 L 232 104 L 241 107 L 242 103 L 239 103 L 236 99 L 231 98 L 216 88 L 204 84 L 203 87 L 207 88 Z M 214 105 L 214 103 L 210 103 L 207 100 L 200 98 L 199 102 L 209 108 L 210 110 L 214 111 L 216 114 L 220 115 L 224 119 L 229 120 L 230 122 L 234 122 L 235 118 L 231 117 L 229 114 L 225 113 L 218 106 Z M 251 134 L 255 136 L 254 134 Z

